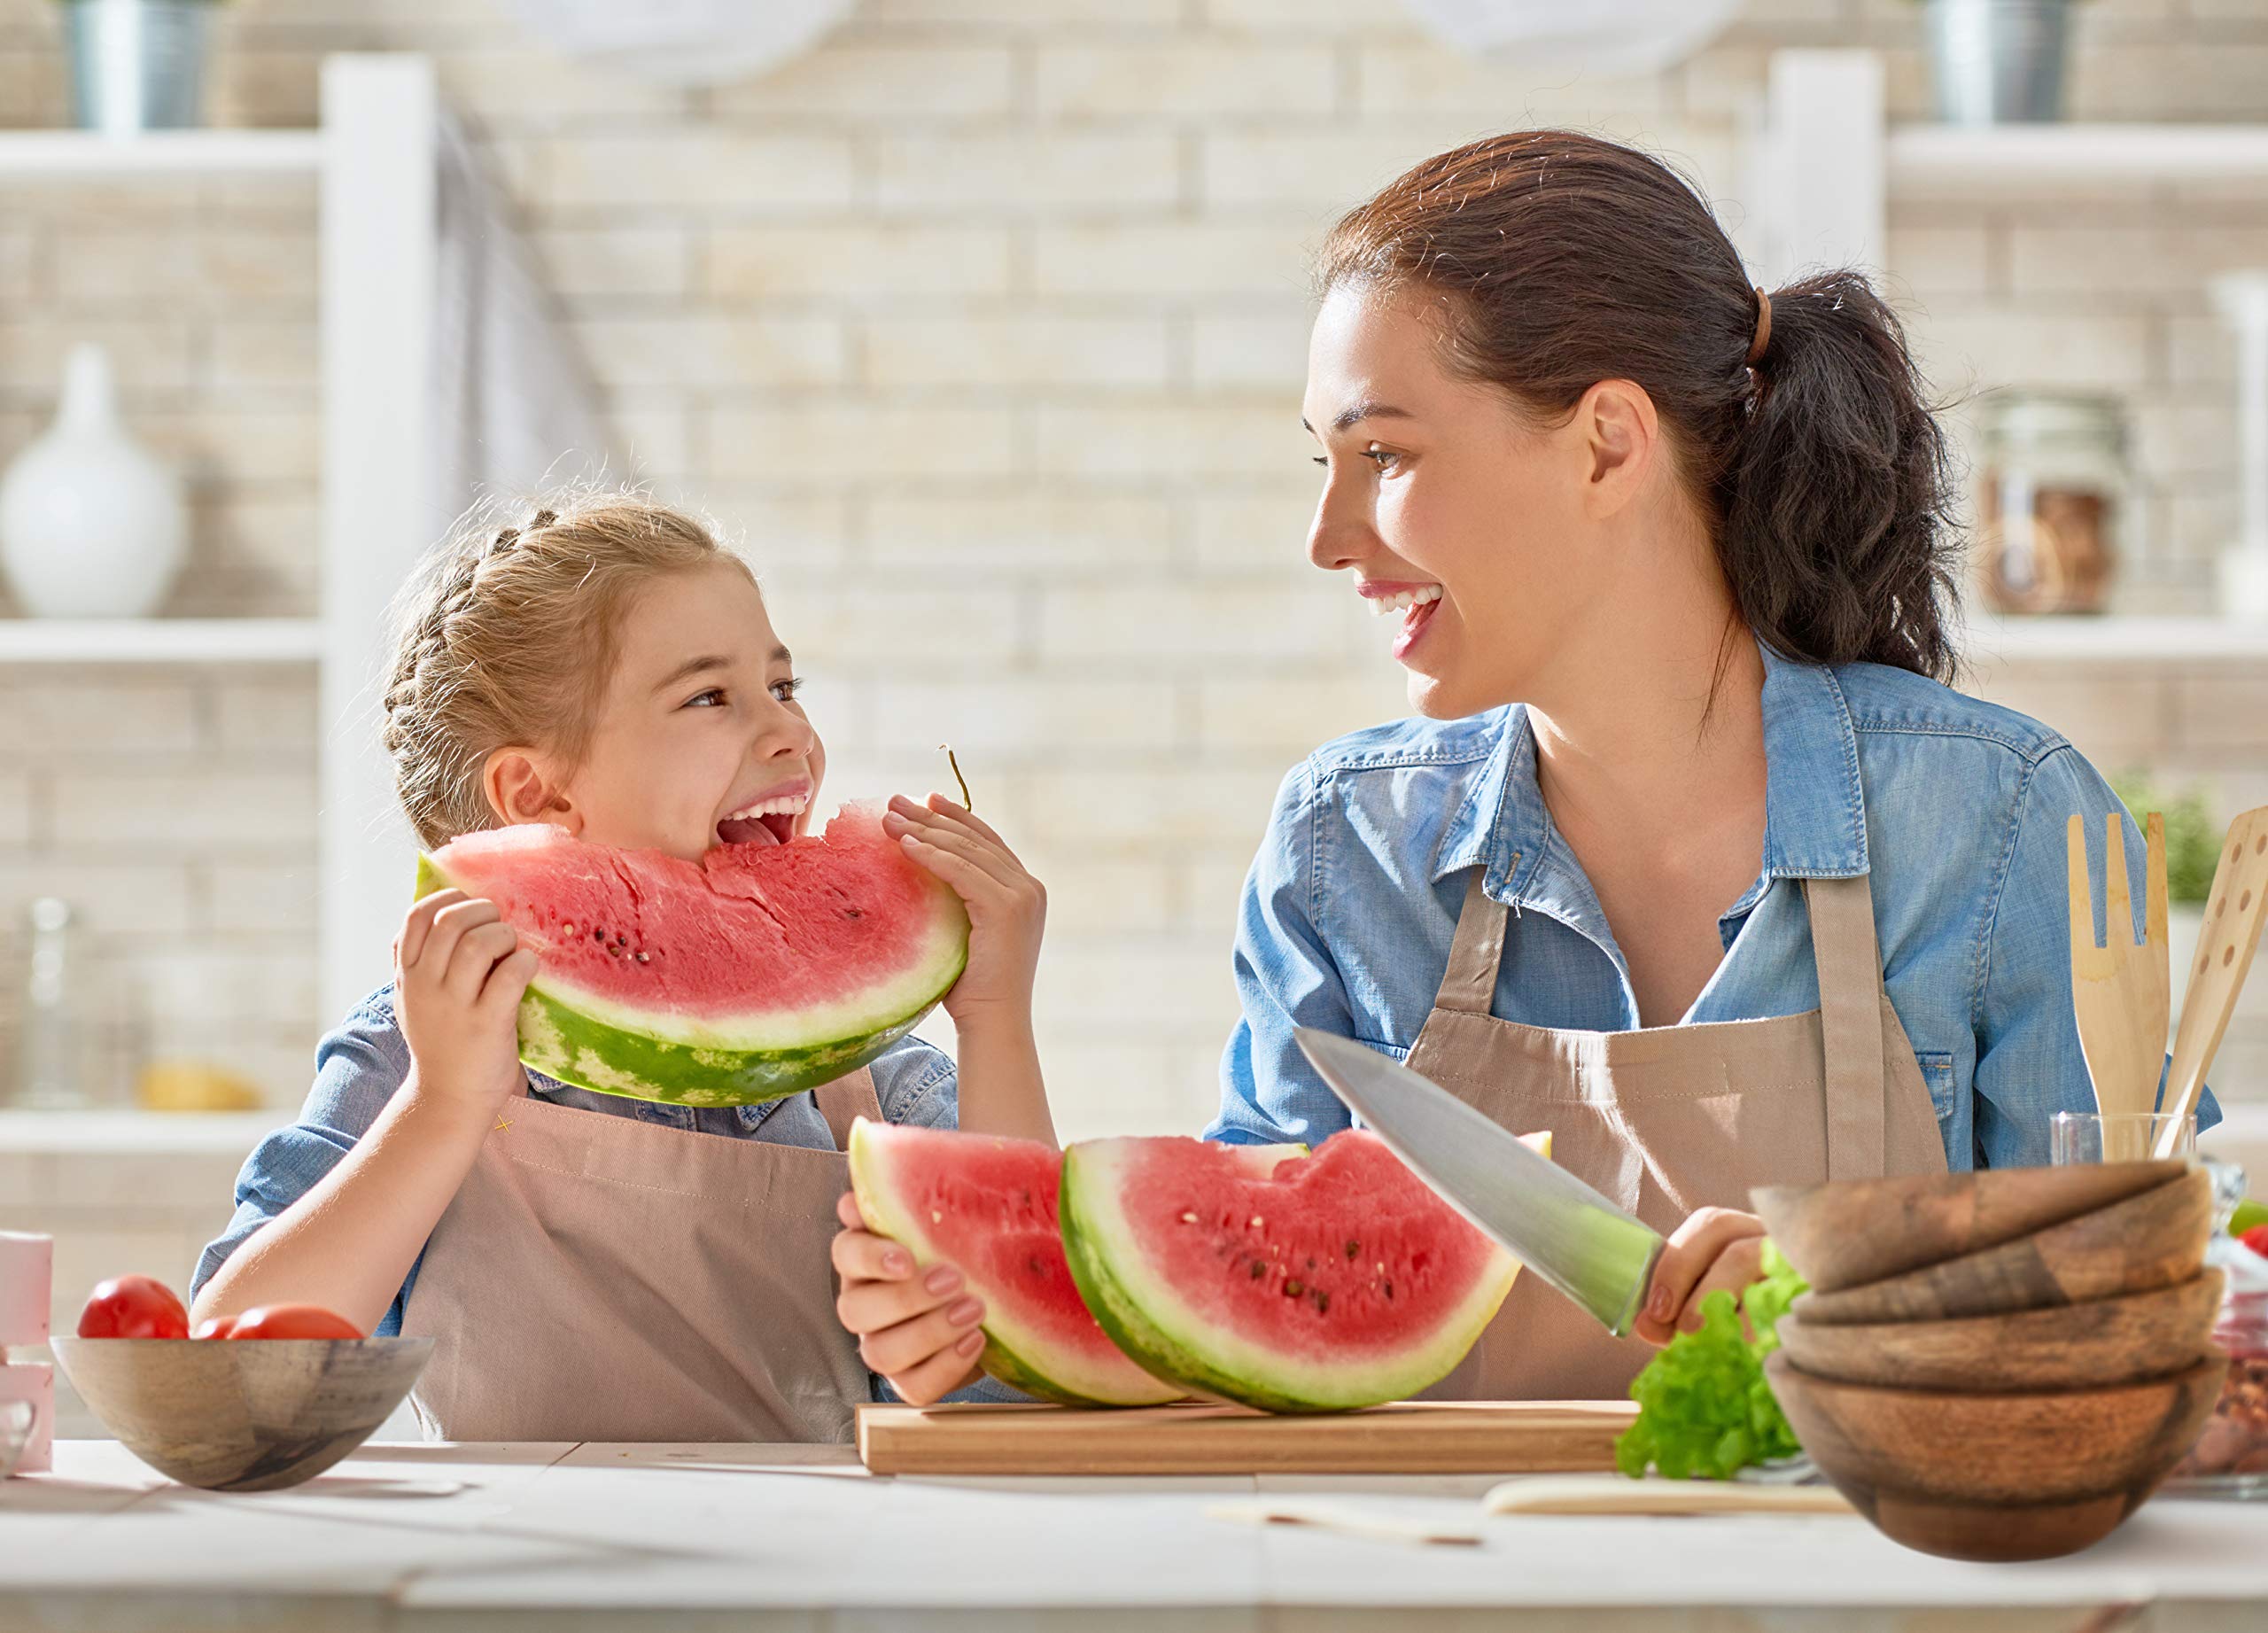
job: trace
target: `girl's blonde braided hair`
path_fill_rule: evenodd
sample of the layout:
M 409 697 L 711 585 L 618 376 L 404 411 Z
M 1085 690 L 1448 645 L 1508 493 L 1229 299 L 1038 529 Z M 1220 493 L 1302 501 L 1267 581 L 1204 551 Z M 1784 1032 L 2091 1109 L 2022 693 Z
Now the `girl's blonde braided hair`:
M 497 748 L 578 764 L 631 601 L 719 562 L 748 572 L 705 522 L 626 490 L 553 494 L 508 526 L 492 508 L 467 517 L 411 581 L 386 687 L 386 753 L 420 844 L 501 821 L 481 787 Z

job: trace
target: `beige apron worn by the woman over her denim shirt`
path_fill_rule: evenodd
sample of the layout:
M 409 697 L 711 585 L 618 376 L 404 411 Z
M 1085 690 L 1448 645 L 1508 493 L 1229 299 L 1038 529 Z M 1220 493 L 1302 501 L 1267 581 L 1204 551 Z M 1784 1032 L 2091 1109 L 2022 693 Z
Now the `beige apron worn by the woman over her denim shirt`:
M 1408 1064 L 1665 1236 L 1749 1186 L 1944 1173 L 1921 1066 L 1882 991 L 1867 878 L 1803 880 L 1819 1007 L 1769 1021 L 1574 1032 L 1488 1012 L 1506 907 L 1472 875 Z M 1622 1397 L 1656 1354 L 1522 1275 L 1436 1399 Z

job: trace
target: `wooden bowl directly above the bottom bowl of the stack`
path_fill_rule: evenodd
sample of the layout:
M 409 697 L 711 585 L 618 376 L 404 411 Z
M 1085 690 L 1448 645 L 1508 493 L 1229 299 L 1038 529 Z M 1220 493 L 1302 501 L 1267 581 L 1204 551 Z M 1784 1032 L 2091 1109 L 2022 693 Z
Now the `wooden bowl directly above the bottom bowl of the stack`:
M 2152 1293 L 1944 1322 L 1812 1327 L 1780 1315 L 1780 1347 L 1812 1377 L 1973 1395 L 2105 1388 L 2170 1377 L 2214 1354 L 2223 1275 Z M 1796 1300 L 1801 1304 L 1801 1300 Z

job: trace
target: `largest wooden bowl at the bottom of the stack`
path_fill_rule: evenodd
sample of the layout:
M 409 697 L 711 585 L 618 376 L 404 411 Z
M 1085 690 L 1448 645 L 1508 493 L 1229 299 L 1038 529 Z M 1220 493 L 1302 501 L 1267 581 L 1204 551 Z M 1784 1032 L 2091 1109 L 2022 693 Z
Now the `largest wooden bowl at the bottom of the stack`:
M 2100 1390 L 1953 1395 L 1817 1379 L 1765 1359 L 1796 1440 L 1882 1535 L 1923 1554 L 2028 1560 L 2100 1542 L 2180 1463 L 2227 1361 Z

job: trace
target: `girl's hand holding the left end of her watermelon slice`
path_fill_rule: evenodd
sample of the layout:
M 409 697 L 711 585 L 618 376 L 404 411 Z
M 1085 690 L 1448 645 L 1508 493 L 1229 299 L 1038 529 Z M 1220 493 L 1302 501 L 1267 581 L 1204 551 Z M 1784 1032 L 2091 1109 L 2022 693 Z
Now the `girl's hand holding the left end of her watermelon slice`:
M 492 1111 L 528 1086 L 517 1016 L 533 978 L 535 948 L 494 903 L 447 889 L 411 907 L 395 937 L 395 1014 L 422 1095 Z

